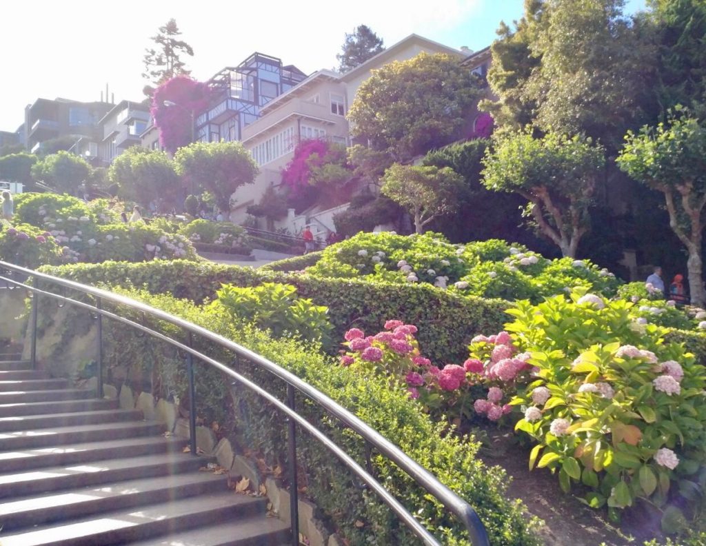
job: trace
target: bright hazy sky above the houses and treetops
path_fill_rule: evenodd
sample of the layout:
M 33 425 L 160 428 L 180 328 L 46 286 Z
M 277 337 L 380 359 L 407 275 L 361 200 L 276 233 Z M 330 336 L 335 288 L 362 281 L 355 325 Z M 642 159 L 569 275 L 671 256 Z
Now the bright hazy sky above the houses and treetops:
M 177 20 L 193 47 L 191 75 L 205 81 L 253 52 L 305 73 L 337 66 L 345 33 L 368 25 L 386 46 L 412 33 L 477 51 L 498 23 L 522 15 L 523 0 L 34 0 L 0 4 L 0 131 L 15 131 L 37 98 L 143 100 L 150 37 Z M 109 6 L 109 9 L 108 9 Z M 627 0 L 629 13 L 645 0 Z

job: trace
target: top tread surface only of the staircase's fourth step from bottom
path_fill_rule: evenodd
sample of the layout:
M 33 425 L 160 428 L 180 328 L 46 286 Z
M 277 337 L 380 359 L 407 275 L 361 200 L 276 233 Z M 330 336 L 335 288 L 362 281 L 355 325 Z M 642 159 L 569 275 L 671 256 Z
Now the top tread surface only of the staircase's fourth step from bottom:
M 6 471 L 3 470 L 4 461 L 14 462 L 16 459 L 23 459 L 24 461 L 32 460 L 33 462 L 37 458 L 51 459 L 52 456 L 56 454 L 83 453 L 86 456 L 86 462 L 89 462 L 95 461 L 95 458 L 90 458 L 93 451 L 110 451 L 133 446 L 162 446 L 164 444 L 167 446 L 183 446 L 187 441 L 188 440 L 179 437 L 165 438 L 163 436 L 147 436 L 116 440 L 88 441 L 81 442 L 80 444 L 66 444 L 64 446 L 48 446 L 35 449 L 19 449 L 17 451 L 3 451 L 0 452 L 0 483 L 2 482 L 2 476 L 6 473 Z

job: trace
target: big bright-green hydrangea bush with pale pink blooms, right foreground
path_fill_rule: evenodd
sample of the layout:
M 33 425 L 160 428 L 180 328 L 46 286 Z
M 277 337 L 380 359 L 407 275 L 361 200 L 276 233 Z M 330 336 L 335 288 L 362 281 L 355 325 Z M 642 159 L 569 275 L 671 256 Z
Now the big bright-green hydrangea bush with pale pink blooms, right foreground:
M 660 506 L 671 482 L 706 461 L 705 369 L 681 345 L 662 343 L 662 328 L 636 324 L 632 303 L 583 294 L 508 309 L 515 320 L 505 329 L 537 369 L 531 382 L 505 388 L 517 389 L 512 405 L 541 411 L 525 412 L 515 429 L 535 443 L 530 469 L 558 471 L 566 492 L 582 482 L 592 489 L 590 506 L 621 509 L 638 497 Z M 486 357 L 484 346 L 472 345 L 472 356 Z M 664 376 L 674 391 L 664 389 Z M 548 397 L 534 391 L 540 387 Z M 674 470 L 658 462 L 662 448 L 677 453 Z

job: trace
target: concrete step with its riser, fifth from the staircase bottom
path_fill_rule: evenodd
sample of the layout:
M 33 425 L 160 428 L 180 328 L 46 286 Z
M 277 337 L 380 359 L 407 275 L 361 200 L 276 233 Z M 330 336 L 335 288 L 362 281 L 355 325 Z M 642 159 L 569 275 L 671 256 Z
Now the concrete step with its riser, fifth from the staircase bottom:
M 0 452 L 162 434 L 160 422 L 105 423 L 0 433 Z

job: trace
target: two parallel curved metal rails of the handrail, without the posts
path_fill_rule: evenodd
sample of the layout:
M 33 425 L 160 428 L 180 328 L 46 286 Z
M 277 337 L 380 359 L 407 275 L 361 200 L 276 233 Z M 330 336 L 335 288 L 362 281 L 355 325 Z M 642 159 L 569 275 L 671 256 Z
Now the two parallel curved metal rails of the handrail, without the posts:
M 254 384 L 249 379 L 246 379 L 244 376 L 241 376 L 241 374 L 234 372 L 234 370 L 226 367 L 220 362 L 211 359 L 207 355 L 203 355 L 201 352 L 193 350 L 188 345 L 179 343 L 177 340 L 173 340 L 172 338 L 164 336 L 164 334 L 162 333 L 152 331 L 150 330 L 150 328 L 147 328 L 134 321 L 131 321 L 130 319 L 126 319 L 122 316 L 113 314 L 110 311 L 102 309 L 99 302 L 107 301 L 118 305 L 124 305 L 136 311 L 140 311 L 144 314 L 153 316 L 155 317 L 155 319 L 169 322 L 171 324 L 174 324 L 174 326 L 179 326 L 179 328 L 183 329 L 186 332 L 196 334 L 201 338 L 210 340 L 213 343 L 216 343 L 217 345 L 221 345 L 222 347 L 231 350 L 236 355 L 245 357 L 250 362 L 258 364 L 258 366 L 260 366 L 262 369 L 267 370 L 271 374 L 285 381 L 288 386 L 292 386 L 301 393 L 306 394 L 306 396 L 316 402 L 330 415 L 333 415 L 337 418 L 337 420 L 340 420 L 340 422 L 347 425 L 347 427 L 353 429 L 355 432 L 357 432 L 357 434 L 359 434 L 359 436 L 368 441 L 371 446 L 373 446 L 390 461 L 393 461 L 397 466 L 404 470 L 405 473 L 412 477 L 412 479 L 417 482 L 418 485 L 423 487 L 426 492 L 435 497 L 439 502 L 441 502 L 441 504 L 443 504 L 443 506 L 446 507 L 446 509 L 451 511 L 453 514 L 455 514 L 455 516 L 457 516 L 457 518 L 459 518 L 460 521 L 462 521 L 462 523 L 467 528 L 469 538 L 471 539 L 471 542 L 474 546 L 490 545 L 489 538 L 483 523 L 480 521 L 480 518 L 478 517 L 474 509 L 472 509 L 472 507 L 469 506 L 469 504 L 465 502 L 465 500 L 460 498 L 447 486 L 443 485 L 443 483 L 439 482 L 436 477 L 434 477 L 429 472 L 429 470 L 426 470 L 426 468 L 422 467 L 421 465 L 419 465 L 419 463 L 407 456 L 406 453 L 400 450 L 400 448 L 395 446 L 395 444 L 393 444 L 391 441 L 383 437 L 382 434 L 377 432 L 375 429 L 371 428 L 369 425 L 366 425 L 366 423 L 360 420 L 359 417 L 353 415 L 351 412 L 349 412 L 349 410 L 343 408 L 332 398 L 325 395 L 321 391 L 318 391 L 318 389 L 306 383 L 306 381 L 303 381 L 298 376 L 292 374 L 292 372 L 288 372 L 286 369 L 283 369 L 274 362 L 271 362 L 265 357 L 258 355 L 256 352 L 242 347 L 241 345 L 235 343 L 232 340 L 224 338 L 223 336 L 220 336 L 217 333 L 211 332 L 201 326 L 181 319 L 178 316 L 174 316 L 165 311 L 162 311 L 161 309 L 155 309 L 154 307 L 144 304 L 143 302 L 138 302 L 134 299 L 114 294 L 113 292 L 108 292 L 107 290 L 102 290 L 100 288 L 76 283 L 72 280 L 54 277 L 53 275 L 47 275 L 46 273 L 39 273 L 38 271 L 16 266 L 14 264 L 6 263 L 4 261 L 0 261 L 0 267 L 8 271 L 16 271 L 18 273 L 22 273 L 23 275 L 32 276 L 34 278 L 45 280 L 55 285 L 70 288 L 71 290 L 77 290 L 78 292 L 83 292 L 84 294 L 92 295 L 96 298 L 96 306 L 85 304 L 83 302 L 78 302 L 74 299 L 67 298 L 61 295 L 56 295 L 52 292 L 46 292 L 44 290 L 38 289 L 35 286 L 27 285 L 25 283 L 20 283 L 17 280 L 0 276 L 0 279 L 3 279 L 9 283 L 13 283 L 14 285 L 25 287 L 26 289 L 34 292 L 37 295 L 46 295 L 49 297 L 53 297 L 54 299 L 62 300 L 64 302 L 71 302 L 71 304 L 77 305 L 78 307 L 90 309 L 90 311 L 92 311 L 93 313 L 100 314 L 101 316 L 108 316 L 110 319 L 123 322 L 124 324 L 128 324 L 129 326 L 144 331 L 145 333 L 150 333 L 150 335 L 160 338 L 161 340 L 167 343 L 175 345 L 179 349 L 186 351 L 190 355 L 198 357 L 200 360 L 203 360 L 203 362 L 206 362 L 212 367 L 215 367 L 216 369 L 220 370 L 220 372 L 227 374 L 233 379 L 239 381 L 239 383 L 244 384 L 248 388 L 251 388 L 251 390 L 255 391 L 260 396 L 263 396 L 263 398 L 268 400 L 270 403 L 273 403 L 273 405 L 275 405 L 279 410 L 287 414 L 289 418 L 296 421 L 298 425 L 306 429 L 307 432 L 309 432 L 319 441 L 321 441 L 327 447 L 327 449 L 330 449 L 330 451 L 332 451 L 338 458 L 340 458 L 343 463 L 345 463 L 354 473 L 359 475 L 359 477 L 361 477 L 361 479 L 364 480 L 366 484 L 373 488 L 378 494 L 378 496 L 381 497 L 381 499 L 385 502 L 385 504 L 388 504 L 388 506 L 390 506 L 390 508 L 393 509 L 393 511 L 395 511 L 395 513 L 400 516 L 400 518 L 402 518 L 402 521 L 404 521 L 407 526 L 412 528 L 412 531 L 417 536 L 419 536 L 419 538 L 424 540 L 426 544 L 437 545 L 438 542 L 436 541 L 436 539 L 433 538 L 432 535 L 429 534 L 429 531 L 427 531 L 426 528 L 421 526 L 419 521 L 414 519 L 414 516 L 412 516 L 412 514 L 409 514 L 409 511 L 407 511 L 407 509 L 405 509 L 404 506 L 402 506 L 397 501 L 397 499 L 395 499 L 395 497 L 393 497 L 387 491 L 387 489 L 385 489 L 374 477 L 372 477 L 355 461 L 353 461 L 352 458 L 350 458 L 347 453 L 345 453 L 345 451 L 342 451 L 342 449 L 337 446 L 337 444 L 335 444 L 332 440 L 326 437 L 323 432 L 321 432 L 316 427 L 313 427 L 311 423 L 306 421 L 303 417 L 301 417 L 301 415 L 297 414 L 292 408 L 289 408 L 289 406 L 285 405 L 285 403 L 282 403 L 281 400 L 275 398 L 275 396 L 271 395 L 267 391 L 264 391 L 263 388 Z

